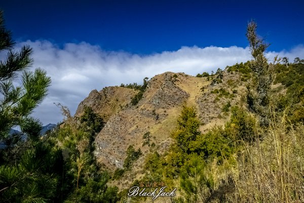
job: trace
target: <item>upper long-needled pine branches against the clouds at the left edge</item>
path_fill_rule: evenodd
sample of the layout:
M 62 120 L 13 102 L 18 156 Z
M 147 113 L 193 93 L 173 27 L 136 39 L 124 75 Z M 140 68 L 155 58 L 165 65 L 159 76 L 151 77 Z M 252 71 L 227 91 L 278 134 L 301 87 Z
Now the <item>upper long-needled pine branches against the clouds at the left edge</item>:
M 23 46 L 15 51 L 14 44 L 12 32 L 5 28 L 0 11 L 0 52 L 7 52 L 6 58 L 0 61 L 0 143 L 3 148 L 0 157 L 5 162 L 17 157 L 24 137 L 35 141 L 40 136 L 41 123 L 30 114 L 45 98 L 51 83 L 44 70 L 28 70 L 33 63 L 32 49 Z M 18 82 L 19 75 L 22 85 L 15 87 L 13 82 Z M 17 126 L 21 133 L 11 135 L 10 130 Z

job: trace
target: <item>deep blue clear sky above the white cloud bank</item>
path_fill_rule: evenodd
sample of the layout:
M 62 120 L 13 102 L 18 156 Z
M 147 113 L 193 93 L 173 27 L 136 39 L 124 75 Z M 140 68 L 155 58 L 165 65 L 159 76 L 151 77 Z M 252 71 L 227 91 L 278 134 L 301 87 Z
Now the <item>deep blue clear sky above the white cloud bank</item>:
M 17 40 L 87 42 L 137 54 L 181 46 L 246 47 L 255 19 L 271 51 L 304 44 L 304 1 L 3 1 Z

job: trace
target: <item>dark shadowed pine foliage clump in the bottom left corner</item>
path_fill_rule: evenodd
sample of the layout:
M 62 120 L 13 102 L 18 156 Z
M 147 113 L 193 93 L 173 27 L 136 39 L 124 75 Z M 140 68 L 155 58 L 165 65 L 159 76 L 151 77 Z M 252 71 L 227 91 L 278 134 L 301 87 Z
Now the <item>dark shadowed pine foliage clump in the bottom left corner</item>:
M 0 166 L 0 201 L 59 201 L 62 164 L 61 150 L 49 143 L 37 143 L 21 155 L 16 165 Z

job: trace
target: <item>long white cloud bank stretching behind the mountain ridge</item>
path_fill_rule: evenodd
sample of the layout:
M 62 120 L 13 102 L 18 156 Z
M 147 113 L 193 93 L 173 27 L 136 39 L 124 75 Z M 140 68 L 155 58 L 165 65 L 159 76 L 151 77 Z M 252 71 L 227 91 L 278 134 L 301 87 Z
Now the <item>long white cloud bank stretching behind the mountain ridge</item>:
M 41 67 L 52 79 L 49 94 L 35 110 L 34 116 L 44 124 L 57 123 L 63 119 L 54 103 L 67 106 L 74 114 L 80 101 L 91 90 L 121 83 L 142 83 L 167 71 L 189 75 L 215 71 L 218 67 L 245 62 L 250 59 L 249 48 L 242 47 L 181 47 L 177 51 L 164 51 L 149 55 L 130 54 L 123 51 L 104 51 L 99 46 L 82 42 L 67 43 L 63 47 L 49 41 L 26 41 L 17 44 L 33 48 L 33 69 Z M 287 56 L 292 61 L 304 56 L 304 46 L 279 53 L 268 52 L 267 57 Z

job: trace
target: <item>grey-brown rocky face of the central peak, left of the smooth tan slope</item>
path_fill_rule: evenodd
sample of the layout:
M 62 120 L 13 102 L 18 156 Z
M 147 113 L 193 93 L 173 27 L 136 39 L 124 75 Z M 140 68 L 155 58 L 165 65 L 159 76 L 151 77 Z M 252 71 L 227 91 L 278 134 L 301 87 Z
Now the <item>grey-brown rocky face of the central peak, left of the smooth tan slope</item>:
M 173 93 L 173 94 L 172 94 Z M 158 75 L 148 82 L 148 87 L 136 107 L 128 107 L 112 115 L 98 134 L 95 154 L 108 167 L 123 167 L 126 149 L 129 145 L 141 147 L 142 136 L 164 121 L 164 111 L 180 106 L 188 93 L 172 82 L 172 73 Z M 152 133 L 153 136 L 159 135 Z M 163 135 L 156 144 L 170 134 Z

